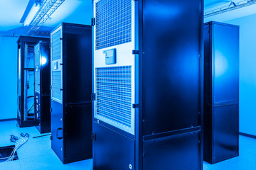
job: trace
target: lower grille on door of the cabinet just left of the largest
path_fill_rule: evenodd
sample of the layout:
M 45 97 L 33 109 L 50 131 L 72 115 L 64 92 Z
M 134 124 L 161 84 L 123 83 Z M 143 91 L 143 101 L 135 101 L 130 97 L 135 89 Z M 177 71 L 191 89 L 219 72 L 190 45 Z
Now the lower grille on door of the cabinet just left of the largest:
M 53 88 L 53 98 L 58 99 L 59 101 L 61 101 L 61 94 L 62 91 L 61 89 L 61 71 L 55 71 L 52 72 L 52 88 Z

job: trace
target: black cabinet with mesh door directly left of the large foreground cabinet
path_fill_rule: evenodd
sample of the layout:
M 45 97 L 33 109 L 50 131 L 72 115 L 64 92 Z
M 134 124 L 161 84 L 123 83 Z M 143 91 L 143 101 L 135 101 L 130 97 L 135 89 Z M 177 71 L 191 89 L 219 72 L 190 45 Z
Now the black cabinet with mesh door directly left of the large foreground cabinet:
M 92 158 L 92 26 L 62 23 L 51 40 L 51 146 L 63 164 Z

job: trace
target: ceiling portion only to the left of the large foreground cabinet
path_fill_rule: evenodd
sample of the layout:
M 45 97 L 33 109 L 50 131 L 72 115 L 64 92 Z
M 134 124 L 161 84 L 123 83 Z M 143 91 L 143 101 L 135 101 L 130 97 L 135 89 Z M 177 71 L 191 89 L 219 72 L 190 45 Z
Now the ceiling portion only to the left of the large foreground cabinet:
M 21 17 L 29 0 L 0 1 L 0 31 L 23 26 Z M 90 24 L 92 0 L 65 0 L 43 26 L 55 27 L 60 22 Z

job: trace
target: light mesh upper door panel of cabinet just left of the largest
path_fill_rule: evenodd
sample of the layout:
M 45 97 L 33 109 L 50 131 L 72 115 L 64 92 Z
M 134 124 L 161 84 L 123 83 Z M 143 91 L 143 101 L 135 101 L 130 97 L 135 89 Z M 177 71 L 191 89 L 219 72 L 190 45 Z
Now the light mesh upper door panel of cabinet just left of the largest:
M 53 101 L 62 103 L 62 42 L 61 42 L 61 27 L 55 30 L 51 35 L 51 98 Z

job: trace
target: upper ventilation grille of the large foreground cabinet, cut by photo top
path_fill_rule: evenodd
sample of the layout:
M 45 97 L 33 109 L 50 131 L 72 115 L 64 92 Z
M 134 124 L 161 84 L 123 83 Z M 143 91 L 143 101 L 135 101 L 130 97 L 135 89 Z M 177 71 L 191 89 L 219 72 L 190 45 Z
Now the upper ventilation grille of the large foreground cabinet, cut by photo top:
M 96 3 L 96 50 L 132 41 L 132 0 Z

